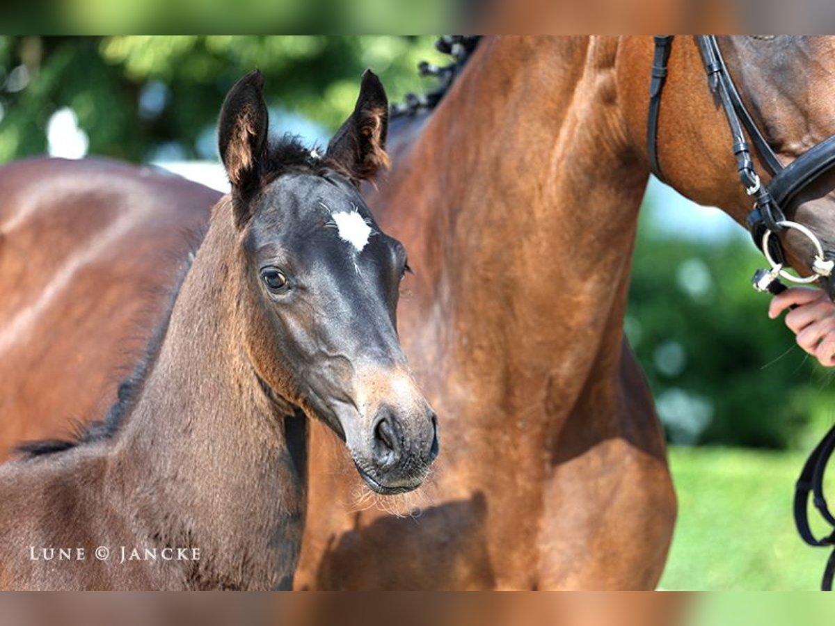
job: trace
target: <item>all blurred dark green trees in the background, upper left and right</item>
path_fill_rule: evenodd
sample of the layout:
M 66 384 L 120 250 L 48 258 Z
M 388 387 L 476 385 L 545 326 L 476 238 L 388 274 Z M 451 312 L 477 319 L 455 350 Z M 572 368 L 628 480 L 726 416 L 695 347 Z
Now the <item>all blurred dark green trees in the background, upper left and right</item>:
M 56 120 L 86 135 L 79 154 L 216 159 L 220 103 L 255 67 L 278 131 L 307 124 L 325 137 L 364 68 L 392 101 L 432 88 L 420 60 L 448 63 L 429 37 L 0 36 L 0 163 L 46 152 Z M 749 286 L 762 264 L 750 241 L 741 229 L 711 240 L 662 228 L 671 215 L 647 204 L 625 328 L 671 441 L 811 447 L 832 422 L 832 376 L 767 319 L 767 296 Z

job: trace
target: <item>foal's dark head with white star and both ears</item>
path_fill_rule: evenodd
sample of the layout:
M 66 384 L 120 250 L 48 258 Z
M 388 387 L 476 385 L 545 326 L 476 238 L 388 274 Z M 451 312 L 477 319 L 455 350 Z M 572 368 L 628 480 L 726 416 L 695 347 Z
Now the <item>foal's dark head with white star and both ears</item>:
M 366 72 L 320 156 L 292 140 L 268 144 L 262 83 L 257 71 L 241 78 L 219 123 L 245 351 L 276 402 L 342 437 L 373 490 L 408 491 L 438 454 L 438 425 L 397 339 L 406 251 L 357 192 L 387 162 L 386 93 Z

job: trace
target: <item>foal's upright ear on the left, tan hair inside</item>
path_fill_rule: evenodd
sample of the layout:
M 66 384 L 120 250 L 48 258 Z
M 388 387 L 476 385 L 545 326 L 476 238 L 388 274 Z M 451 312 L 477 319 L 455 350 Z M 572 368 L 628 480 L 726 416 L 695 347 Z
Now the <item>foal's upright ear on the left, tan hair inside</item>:
M 235 83 L 220 109 L 217 129 L 220 159 L 229 175 L 233 194 L 240 199 L 255 192 L 260 182 L 259 166 L 269 126 L 263 88 L 264 77 L 256 69 Z

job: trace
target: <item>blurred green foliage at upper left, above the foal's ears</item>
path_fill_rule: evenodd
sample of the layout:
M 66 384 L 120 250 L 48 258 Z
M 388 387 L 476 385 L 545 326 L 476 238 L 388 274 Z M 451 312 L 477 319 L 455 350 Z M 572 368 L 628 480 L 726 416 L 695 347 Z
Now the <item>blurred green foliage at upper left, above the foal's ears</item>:
M 431 37 L 0 36 L 0 162 L 43 154 L 48 120 L 63 107 L 92 154 L 214 158 L 220 103 L 252 68 L 265 73 L 271 107 L 331 131 L 352 110 L 363 69 L 400 99 L 426 90 L 423 59 L 444 60 Z

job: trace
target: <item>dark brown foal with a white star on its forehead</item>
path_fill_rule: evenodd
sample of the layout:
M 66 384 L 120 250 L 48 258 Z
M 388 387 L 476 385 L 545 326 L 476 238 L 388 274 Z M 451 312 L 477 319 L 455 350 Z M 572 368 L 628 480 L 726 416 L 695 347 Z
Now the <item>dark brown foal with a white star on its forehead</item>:
M 357 190 L 387 161 L 382 84 L 363 75 L 324 155 L 268 142 L 262 85 L 225 98 L 231 193 L 119 403 L 0 467 L 0 588 L 291 588 L 309 419 L 377 492 L 417 487 L 437 455 L 397 341 L 406 253 Z

